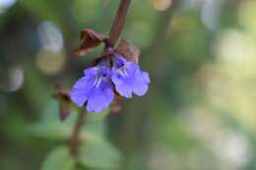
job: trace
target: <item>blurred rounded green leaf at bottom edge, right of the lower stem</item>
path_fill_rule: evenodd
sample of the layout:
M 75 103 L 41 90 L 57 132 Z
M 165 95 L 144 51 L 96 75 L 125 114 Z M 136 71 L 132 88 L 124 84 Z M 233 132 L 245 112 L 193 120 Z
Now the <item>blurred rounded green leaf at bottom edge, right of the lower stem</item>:
M 118 169 L 120 153 L 103 138 L 87 140 L 80 151 L 80 163 L 88 168 Z

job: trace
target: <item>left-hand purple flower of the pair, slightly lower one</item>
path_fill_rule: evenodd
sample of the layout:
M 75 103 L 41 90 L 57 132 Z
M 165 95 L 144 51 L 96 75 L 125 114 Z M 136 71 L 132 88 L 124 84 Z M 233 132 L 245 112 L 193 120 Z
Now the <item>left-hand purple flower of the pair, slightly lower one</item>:
M 110 69 L 98 65 L 85 70 L 84 74 L 71 89 L 71 99 L 80 107 L 87 104 L 89 112 L 99 112 L 114 98 L 113 85 L 109 78 Z

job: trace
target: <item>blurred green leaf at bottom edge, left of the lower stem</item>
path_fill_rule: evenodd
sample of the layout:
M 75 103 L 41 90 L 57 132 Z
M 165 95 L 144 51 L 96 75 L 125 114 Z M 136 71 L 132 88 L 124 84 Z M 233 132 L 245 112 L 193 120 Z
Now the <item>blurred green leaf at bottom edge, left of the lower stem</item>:
M 75 170 L 75 168 L 76 162 L 70 156 L 68 148 L 60 146 L 45 158 L 41 170 Z

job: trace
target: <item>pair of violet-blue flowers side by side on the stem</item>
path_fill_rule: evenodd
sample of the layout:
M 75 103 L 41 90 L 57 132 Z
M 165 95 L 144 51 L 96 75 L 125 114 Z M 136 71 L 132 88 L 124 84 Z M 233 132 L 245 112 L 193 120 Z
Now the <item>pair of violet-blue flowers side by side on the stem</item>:
M 84 71 L 84 77 L 71 89 L 71 99 L 80 107 L 87 105 L 89 112 L 97 113 L 111 103 L 114 91 L 126 98 L 131 98 L 132 93 L 142 96 L 148 91 L 149 84 L 147 72 L 115 53 Z

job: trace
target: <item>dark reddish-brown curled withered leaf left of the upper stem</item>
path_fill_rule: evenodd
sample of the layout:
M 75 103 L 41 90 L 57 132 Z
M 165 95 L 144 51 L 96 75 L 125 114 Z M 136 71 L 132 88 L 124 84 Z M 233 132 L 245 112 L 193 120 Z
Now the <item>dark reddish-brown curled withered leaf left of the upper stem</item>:
M 93 29 L 85 28 L 80 32 L 80 46 L 74 51 L 76 57 L 84 56 L 91 52 L 97 45 L 107 39 L 107 36 Z

